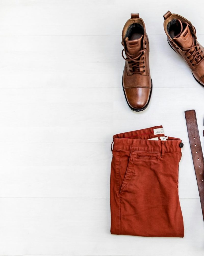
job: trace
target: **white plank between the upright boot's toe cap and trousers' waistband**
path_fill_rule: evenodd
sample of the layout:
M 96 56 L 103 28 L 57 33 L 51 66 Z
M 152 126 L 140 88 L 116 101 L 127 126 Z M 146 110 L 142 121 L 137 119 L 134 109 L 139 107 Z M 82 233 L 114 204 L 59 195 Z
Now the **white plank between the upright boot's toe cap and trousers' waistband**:
M 203 142 L 203 97 L 203 88 L 153 88 L 138 113 L 122 88 L 1 89 L 0 141 L 111 142 L 117 133 L 163 125 L 188 142 L 184 111 L 196 109 Z

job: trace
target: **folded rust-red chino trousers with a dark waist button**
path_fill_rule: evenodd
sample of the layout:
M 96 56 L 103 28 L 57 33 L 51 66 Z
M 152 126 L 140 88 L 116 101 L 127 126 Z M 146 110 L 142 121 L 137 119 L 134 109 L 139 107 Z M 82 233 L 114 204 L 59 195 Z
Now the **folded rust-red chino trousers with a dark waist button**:
M 184 236 L 178 193 L 182 147 L 161 125 L 113 136 L 111 234 Z

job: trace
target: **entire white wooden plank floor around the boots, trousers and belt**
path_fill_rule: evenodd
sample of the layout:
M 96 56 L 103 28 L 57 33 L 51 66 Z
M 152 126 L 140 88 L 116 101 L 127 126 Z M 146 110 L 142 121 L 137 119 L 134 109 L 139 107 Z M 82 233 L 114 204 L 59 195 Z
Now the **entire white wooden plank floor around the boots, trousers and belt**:
M 163 14 L 189 19 L 204 45 L 204 2 L 0 1 L 0 255 L 200 256 L 204 225 L 184 111 L 204 148 L 204 88 L 169 47 Z M 121 32 L 144 19 L 153 92 L 129 109 Z M 184 238 L 110 234 L 112 135 L 163 125 L 182 138 Z

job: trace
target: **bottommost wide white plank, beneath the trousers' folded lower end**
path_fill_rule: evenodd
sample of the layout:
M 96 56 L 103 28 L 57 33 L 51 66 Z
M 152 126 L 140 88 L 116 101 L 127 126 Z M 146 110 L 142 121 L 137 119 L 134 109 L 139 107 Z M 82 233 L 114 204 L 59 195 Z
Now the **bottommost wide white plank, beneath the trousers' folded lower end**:
M 109 199 L 1 198 L 0 254 L 201 256 L 199 199 L 181 207 L 184 238 L 145 238 L 110 234 Z

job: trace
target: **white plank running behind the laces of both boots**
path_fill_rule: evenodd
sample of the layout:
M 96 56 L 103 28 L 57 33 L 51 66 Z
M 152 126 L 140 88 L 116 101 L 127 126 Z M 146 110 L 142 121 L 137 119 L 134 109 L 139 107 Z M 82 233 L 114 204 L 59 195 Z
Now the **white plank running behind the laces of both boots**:
M 204 43 L 204 35 L 199 39 Z M 164 35 L 149 41 L 154 88 L 201 87 Z M 0 88 L 122 87 L 119 35 L 1 37 L 0 49 Z

